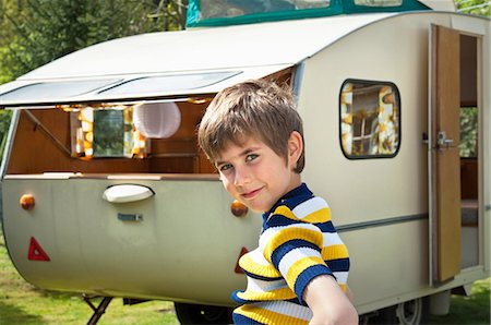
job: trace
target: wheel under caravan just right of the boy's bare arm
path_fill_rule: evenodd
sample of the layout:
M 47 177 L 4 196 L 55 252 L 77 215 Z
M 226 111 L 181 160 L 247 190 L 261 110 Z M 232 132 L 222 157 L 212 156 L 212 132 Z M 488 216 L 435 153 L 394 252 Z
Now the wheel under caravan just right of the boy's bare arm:
M 418 298 L 380 310 L 368 324 L 420 325 L 427 323 L 428 313 L 428 298 Z

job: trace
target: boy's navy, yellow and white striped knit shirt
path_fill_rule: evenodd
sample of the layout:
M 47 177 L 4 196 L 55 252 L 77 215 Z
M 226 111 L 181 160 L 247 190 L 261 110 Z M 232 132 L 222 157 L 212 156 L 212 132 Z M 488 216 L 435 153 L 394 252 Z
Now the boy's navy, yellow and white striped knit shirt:
M 302 300 L 309 282 L 332 275 L 346 291 L 349 255 L 331 221 L 327 203 L 303 183 L 263 214 L 259 248 L 239 261 L 244 291 L 232 299 L 236 324 L 307 324 L 312 312 Z

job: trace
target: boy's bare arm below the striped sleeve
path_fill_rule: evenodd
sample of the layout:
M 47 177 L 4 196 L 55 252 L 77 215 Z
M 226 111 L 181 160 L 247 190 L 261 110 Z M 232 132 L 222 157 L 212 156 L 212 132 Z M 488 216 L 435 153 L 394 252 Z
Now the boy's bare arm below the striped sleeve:
M 358 324 L 355 306 L 332 276 L 312 279 L 303 292 L 303 300 L 312 310 L 310 324 Z

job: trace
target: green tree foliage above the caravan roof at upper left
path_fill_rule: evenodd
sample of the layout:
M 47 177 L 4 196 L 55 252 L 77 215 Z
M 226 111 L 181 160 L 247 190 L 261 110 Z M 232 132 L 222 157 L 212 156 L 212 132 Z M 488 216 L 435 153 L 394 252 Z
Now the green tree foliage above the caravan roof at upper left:
M 183 5 L 178 1 L 12 2 L 3 0 L 0 4 L 0 25 L 7 28 L 0 41 L 0 83 L 96 43 L 183 27 Z

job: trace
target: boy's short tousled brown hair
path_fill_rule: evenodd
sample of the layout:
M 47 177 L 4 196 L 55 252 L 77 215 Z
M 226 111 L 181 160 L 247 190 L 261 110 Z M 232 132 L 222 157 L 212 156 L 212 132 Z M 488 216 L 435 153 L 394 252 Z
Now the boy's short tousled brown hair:
M 297 131 L 302 136 L 302 120 L 289 89 L 263 80 L 246 81 L 219 92 L 200 123 L 197 141 L 212 162 L 229 142 L 241 145 L 255 136 L 278 156 L 287 159 L 288 139 Z M 304 151 L 295 172 L 304 166 Z

